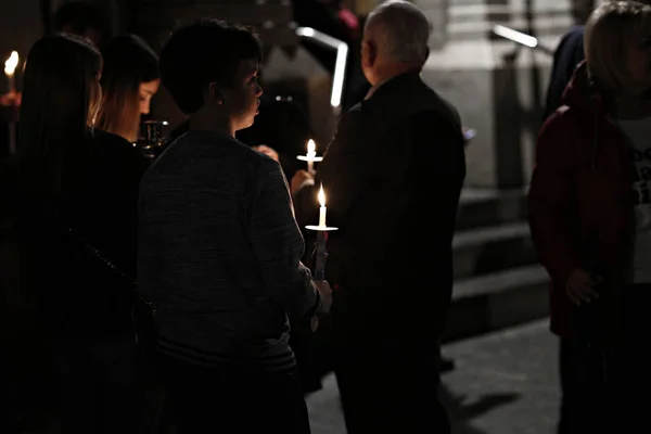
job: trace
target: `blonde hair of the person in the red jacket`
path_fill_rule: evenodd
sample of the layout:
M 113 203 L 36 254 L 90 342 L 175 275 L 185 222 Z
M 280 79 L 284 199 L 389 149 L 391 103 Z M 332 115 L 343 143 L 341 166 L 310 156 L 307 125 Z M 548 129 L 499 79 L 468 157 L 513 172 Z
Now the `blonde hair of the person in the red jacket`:
M 584 51 L 590 75 L 608 91 L 630 81 L 628 50 L 651 36 L 651 7 L 635 1 L 607 1 L 588 18 Z

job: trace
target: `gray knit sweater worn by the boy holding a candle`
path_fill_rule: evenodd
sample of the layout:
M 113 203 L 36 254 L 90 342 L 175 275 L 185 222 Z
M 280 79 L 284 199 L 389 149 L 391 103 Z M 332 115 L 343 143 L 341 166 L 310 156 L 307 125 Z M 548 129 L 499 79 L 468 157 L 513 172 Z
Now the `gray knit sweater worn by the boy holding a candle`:
M 139 291 L 168 356 L 292 368 L 289 324 L 319 305 L 303 252 L 280 165 L 227 135 L 187 132 L 142 179 Z

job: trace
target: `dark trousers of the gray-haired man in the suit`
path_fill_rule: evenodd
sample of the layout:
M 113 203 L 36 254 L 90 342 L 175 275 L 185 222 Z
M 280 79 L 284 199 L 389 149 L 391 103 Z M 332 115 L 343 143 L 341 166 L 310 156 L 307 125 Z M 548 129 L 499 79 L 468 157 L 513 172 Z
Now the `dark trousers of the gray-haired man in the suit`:
M 354 336 L 348 336 L 354 337 Z M 335 341 L 334 371 L 348 434 L 448 434 L 434 344 L 404 336 Z

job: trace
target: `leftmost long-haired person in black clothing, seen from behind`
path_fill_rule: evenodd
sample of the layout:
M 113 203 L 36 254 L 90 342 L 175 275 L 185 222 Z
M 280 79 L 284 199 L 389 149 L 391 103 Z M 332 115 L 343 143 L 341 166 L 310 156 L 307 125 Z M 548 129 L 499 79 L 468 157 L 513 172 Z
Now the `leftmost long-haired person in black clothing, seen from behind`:
M 86 40 L 41 38 L 27 56 L 21 106 L 22 283 L 39 302 L 65 433 L 136 433 L 141 419 L 131 278 L 146 161 L 92 130 L 101 65 Z

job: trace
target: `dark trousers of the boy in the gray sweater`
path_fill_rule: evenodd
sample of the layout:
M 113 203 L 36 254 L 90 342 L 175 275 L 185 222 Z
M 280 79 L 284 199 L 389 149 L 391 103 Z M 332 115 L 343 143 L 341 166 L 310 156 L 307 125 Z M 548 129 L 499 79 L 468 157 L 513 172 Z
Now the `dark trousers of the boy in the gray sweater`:
M 309 434 L 295 371 L 243 374 L 162 356 L 163 381 L 179 434 Z

